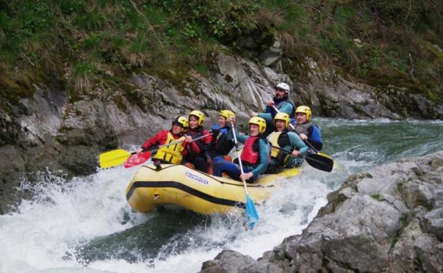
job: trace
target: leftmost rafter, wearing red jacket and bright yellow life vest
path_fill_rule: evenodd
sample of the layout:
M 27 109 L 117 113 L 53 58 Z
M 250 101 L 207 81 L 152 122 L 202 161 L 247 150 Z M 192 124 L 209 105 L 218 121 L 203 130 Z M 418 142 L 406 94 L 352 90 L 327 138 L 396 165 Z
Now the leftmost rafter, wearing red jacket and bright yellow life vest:
M 152 158 L 154 162 L 160 162 L 165 164 L 181 164 L 183 156 L 186 155 L 186 147 L 191 146 L 194 149 L 198 149 L 197 144 L 194 142 L 187 143 L 185 135 L 183 134 L 188 128 L 188 119 L 183 116 L 177 116 L 172 120 L 172 128 L 168 130 L 161 130 L 156 133 L 152 138 L 148 139 L 143 145 L 136 150 L 137 153 L 146 151 L 155 145 L 163 145 L 171 142 L 181 141 L 176 144 L 161 147 L 159 151 Z

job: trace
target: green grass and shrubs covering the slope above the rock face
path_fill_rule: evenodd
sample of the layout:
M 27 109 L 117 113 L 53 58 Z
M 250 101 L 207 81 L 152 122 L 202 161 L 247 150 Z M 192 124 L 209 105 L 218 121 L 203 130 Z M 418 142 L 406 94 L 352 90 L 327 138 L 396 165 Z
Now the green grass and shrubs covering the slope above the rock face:
M 211 53 L 255 58 L 275 34 L 295 79 L 309 56 L 348 79 L 442 99 L 437 0 L 0 0 L 0 94 L 15 103 L 44 82 L 78 100 L 141 71 L 180 88 L 208 72 Z

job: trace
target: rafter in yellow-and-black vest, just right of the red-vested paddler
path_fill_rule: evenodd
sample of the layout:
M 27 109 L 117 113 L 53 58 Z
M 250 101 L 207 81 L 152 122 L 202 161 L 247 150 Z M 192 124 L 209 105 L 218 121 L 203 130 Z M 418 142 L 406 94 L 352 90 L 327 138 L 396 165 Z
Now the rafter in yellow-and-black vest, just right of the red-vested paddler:
M 288 131 L 290 120 L 289 115 L 282 112 L 274 117 L 275 131 L 268 135 L 272 149 L 266 173 L 278 173 L 288 165 L 292 166 L 294 160 L 301 163 L 309 150 L 296 133 Z

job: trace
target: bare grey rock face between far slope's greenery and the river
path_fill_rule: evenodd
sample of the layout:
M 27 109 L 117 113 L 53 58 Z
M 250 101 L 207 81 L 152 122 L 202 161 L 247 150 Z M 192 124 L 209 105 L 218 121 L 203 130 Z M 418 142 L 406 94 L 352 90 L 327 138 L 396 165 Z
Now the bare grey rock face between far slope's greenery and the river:
M 272 56 L 271 61 L 275 63 Z M 281 67 L 276 63 L 276 68 Z M 212 66 L 208 75 L 195 73 L 180 87 L 139 74 L 130 79 L 129 91 L 111 93 L 98 87 L 77 102 L 69 102 L 61 90 L 34 86 L 33 97 L 10 105 L 8 111 L 0 109 L 0 214 L 21 200 L 15 189 L 23 180 L 35 180 L 39 171 L 93 173 L 100 152 L 141 144 L 155 131 L 169 128 L 174 115 L 187 115 L 193 109 L 206 113 L 207 126 L 216 122 L 221 109 L 232 109 L 244 122 L 249 111 L 264 109 L 278 82 L 287 82 L 293 88 L 294 104 L 311 106 L 314 115 L 443 117 L 443 106 L 422 95 L 347 82 L 309 60 L 300 68 L 307 69 L 302 82 L 240 57 L 213 55 Z

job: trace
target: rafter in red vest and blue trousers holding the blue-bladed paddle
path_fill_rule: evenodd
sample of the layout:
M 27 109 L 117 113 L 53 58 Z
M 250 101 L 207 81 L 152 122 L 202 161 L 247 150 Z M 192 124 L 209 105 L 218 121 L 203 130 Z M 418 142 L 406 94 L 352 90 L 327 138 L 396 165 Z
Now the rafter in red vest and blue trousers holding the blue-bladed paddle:
M 232 117 L 230 122 L 234 122 Z M 270 151 L 269 142 L 263 135 L 266 130 L 266 121 L 262 117 L 251 117 L 248 124 L 249 135 L 240 135 L 238 131 L 235 131 L 237 140 L 244 143 L 242 155 L 239 158 L 242 160 L 244 173 L 242 174 L 238 164 L 217 157 L 214 158 L 212 164 L 214 176 L 221 176 L 221 173 L 226 172 L 235 180 L 254 182 L 257 176 L 266 170 Z

